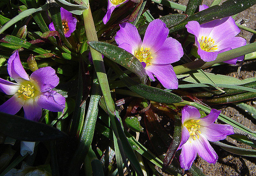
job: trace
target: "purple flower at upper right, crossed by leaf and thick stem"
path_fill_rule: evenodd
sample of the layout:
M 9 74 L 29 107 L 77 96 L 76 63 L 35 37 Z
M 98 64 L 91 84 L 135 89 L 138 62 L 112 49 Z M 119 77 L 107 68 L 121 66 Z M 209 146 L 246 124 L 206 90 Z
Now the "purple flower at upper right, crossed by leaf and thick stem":
M 207 5 L 200 5 L 199 11 L 207 8 Z M 244 38 L 235 37 L 240 29 L 236 26 L 232 17 L 213 20 L 201 25 L 197 21 L 189 21 L 186 28 L 189 33 L 195 35 L 195 45 L 198 47 L 197 53 L 206 62 L 215 60 L 221 52 L 246 44 Z M 237 60 L 241 61 L 243 59 L 244 56 L 240 56 L 225 62 L 236 65 Z

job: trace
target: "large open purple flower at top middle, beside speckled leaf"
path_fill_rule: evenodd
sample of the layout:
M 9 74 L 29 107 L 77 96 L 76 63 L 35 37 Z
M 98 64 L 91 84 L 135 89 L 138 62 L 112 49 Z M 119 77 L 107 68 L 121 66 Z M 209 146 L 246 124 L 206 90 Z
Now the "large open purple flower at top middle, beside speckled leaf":
M 169 29 L 159 19 L 149 23 L 143 42 L 137 28 L 130 24 L 120 24 L 116 33 L 116 43 L 120 48 L 132 53 L 155 81 L 153 74 L 165 88 L 177 89 L 178 79 L 171 63 L 180 60 L 183 55 L 181 44 L 168 37 Z

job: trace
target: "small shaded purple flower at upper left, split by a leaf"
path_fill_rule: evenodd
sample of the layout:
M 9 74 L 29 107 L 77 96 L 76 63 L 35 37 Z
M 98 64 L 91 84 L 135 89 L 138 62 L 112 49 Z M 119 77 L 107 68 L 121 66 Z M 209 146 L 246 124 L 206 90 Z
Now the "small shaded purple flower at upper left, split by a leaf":
M 76 18 L 72 17 L 72 13 L 66 9 L 60 7 L 60 15 L 62 21 L 62 28 L 64 30 L 65 37 L 71 36 L 71 33 L 76 30 Z M 55 30 L 53 22 L 49 25 L 50 31 Z

